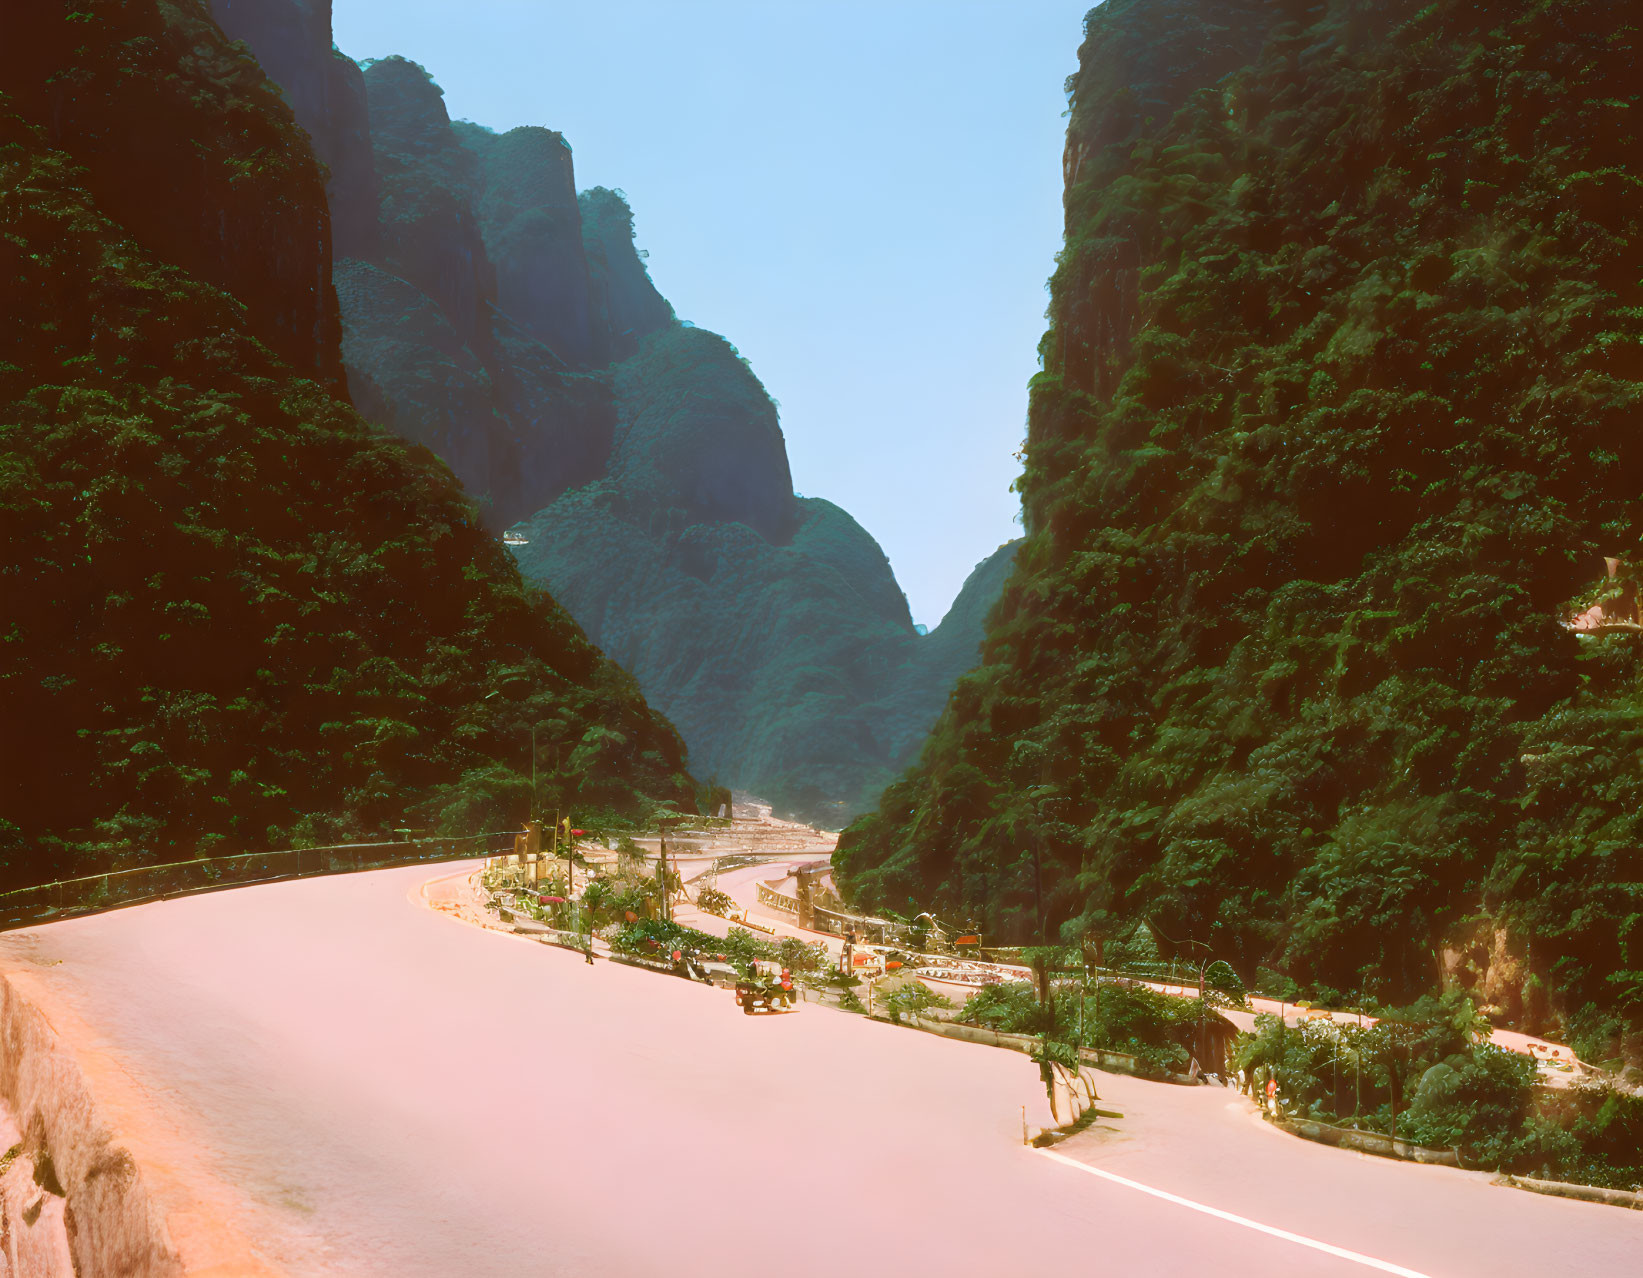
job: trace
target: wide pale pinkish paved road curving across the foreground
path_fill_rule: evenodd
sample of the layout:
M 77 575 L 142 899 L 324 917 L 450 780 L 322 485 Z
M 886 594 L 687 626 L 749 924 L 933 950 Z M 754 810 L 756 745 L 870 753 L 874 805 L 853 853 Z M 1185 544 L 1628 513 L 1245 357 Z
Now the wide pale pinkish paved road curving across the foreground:
M 0 940 L 245 1198 L 291 1273 L 1622 1275 L 1643 1214 L 1308 1145 L 1231 1092 L 1020 1145 L 1022 1056 L 480 931 L 429 867 L 222 892 Z M 191 1147 L 192 1148 L 192 1147 Z M 1398 1270 L 1397 1267 L 1405 1267 Z

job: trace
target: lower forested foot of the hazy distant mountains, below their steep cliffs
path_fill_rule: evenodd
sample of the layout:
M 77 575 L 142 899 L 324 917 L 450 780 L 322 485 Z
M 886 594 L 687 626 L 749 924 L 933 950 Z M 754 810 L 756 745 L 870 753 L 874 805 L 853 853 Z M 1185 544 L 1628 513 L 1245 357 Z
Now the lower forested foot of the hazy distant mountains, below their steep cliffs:
M 518 554 L 695 742 L 702 775 L 843 825 L 917 756 L 974 664 L 1015 544 L 920 636 L 899 590 L 900 616 L 886 608 L 894 578 L 861 526 L 818 498 L 795 506 L 785 545 L 739 521 L 652 531 L 646 506 L 601 481 L 522 524 Z

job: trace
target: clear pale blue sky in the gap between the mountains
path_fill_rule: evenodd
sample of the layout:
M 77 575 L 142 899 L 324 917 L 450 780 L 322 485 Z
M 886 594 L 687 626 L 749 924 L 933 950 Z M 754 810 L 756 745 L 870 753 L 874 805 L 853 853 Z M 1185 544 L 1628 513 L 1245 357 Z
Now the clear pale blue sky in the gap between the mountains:
M 343 53 L 628 192 L 657 287 L 748 356 L 794 486 L 879 539 L 917 621 L 1019 534 L 1091 0 L 334 2 Z

